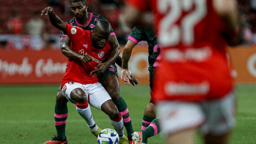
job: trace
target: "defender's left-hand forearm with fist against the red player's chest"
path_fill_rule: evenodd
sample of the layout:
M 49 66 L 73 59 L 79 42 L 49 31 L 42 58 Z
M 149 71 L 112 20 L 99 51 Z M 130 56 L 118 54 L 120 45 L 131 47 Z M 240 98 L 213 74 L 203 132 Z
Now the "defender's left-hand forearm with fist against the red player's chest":
M 84 61 L 84 63 L 93 60 L 93 58 L 89 55 L 82 55 L 78 52 L 75 52 L 71 48 L 71 41 L 68 36 L 61 37 L 61 50 L 62 53 L 68 58 L 79 59 L 81 61 Z

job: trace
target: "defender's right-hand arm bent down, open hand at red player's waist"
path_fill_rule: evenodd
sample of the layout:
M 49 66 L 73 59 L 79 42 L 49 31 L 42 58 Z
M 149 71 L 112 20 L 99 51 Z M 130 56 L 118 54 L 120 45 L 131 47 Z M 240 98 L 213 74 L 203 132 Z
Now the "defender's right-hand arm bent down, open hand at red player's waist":
M 118 43 L 115 35 L 111 35 L 109 37 L 108 43 L 111 47 L 110 57 L 107 59 L 106 62 L 101 63 L 95 67 L 95 69 L 97 69 L 97 70 L 93 70 L 91 72 L 91 74 L 95 74 L 95 75 L 93 75 L 93 77 L 97 77 L 97 76 L 103 74 L 106 71 L 106 69 L 108 67 L 110 67 L 110 65 L 113 64 L 115 62 L 116 58 L 119 56 L 120 46 L 119 46 L 119 43 Z

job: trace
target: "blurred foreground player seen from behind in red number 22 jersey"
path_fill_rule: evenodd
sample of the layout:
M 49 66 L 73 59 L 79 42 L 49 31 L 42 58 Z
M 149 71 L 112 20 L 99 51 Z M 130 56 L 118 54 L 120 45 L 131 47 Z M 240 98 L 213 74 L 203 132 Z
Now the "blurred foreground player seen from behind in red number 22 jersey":
M 126 20 L 147 23 L 153 10 L 163 56 L 153 100 L 168 144 L 194 144 L 197 128 L 206 144 L 228 144 L 234 127 L 234 93 L 226 44 L 237 31 L 235 0 L 128 0 Z M 133 137 L 141 144 L 141 135 Z

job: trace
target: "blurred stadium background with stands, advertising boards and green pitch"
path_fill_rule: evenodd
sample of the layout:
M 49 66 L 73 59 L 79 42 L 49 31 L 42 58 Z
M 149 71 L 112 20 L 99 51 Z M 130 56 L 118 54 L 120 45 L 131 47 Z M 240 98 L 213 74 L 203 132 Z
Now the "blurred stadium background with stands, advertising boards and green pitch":
M 88 2 L 88 12 L 109 20 L 122 50 L 131 31 L 122 19 L 124 1 Z M 242 40 L 238 47 L 228 48 L 238 96 L 237 125 L 231 144 L 256 144 L 256 0 L 238 2 Z M 60 51 L 59 31 L 48 17 L 40 17 L 40 11 L 47 6 L 52 6 L 64 21 L 72 17 L 69 0 L 0 0 L 0 144 L 40 144 L 56 133 L 55 96 L 67 58 Z M 150 98 L 147 57 L 147 44 L 141 42 L 129 61 L 139 86 L 128 87 L 120 81 L 121 96 L 128 104 L 136 131 L 141 128 L 142 114 Z M 96 144 L 75 106 L 68 107 L 69 144 Z M 92 110 L 100 127 L 111 127 L 106 114 Z M 200 137 L 197 142 L 203 143 Z M 148 144 L 163 144 L 163 138 L 154 136 Z

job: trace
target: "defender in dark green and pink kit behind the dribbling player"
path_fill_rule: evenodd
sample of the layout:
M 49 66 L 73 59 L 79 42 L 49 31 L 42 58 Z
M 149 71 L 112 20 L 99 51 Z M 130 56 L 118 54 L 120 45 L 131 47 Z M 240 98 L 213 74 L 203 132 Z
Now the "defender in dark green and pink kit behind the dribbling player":
M 89 13 L 87 11 L 89 4 L 86 0 L 69 0 L 69 6 L 71 13 L 74 17 L 72 17 L 67 23 L 71 24 L 72 26 L 79 26 L 80 28 L 88 31 L 93 31 L 96 23 L 99 20 L 106 20 L 106 18 L 102 17 L 99 14 Z M 80 54 L 79 52 L 75 52 L 73 50 L 73 46 L 71 43 L 70 38 L 68 35 L 61 31 L 61 50 L 63 55 L 71 59 L 79 59 L 83 60 L 85 55 Z M 129 115 L 128 106 L 125 100 L 120 96 L 120 87 L 119 87 L 119 79 L 117 75 L 117 66 L 115 62 L 121 67 L 122 58 L 119 55 L 119 43 L 116 39 L 115 32 L 111 28 L 110 37 L 108 42 L 111 47 L 111 54 L 110 57 L 97 65 L 96 69 L 93 71 L 93 74 L 97 74 L 99 82 L 102 83 L 102 86 L 106 89 L 106 91 L 111 96 L 111 99 L 114 101 L 117 109 L 121 113 L 124 119 L 124 127 L 127 131 L 128 140 L 129 142 L 132 141 L 131 134 L 133 133 L 132 128 L 132 121 Z M 116 57 L 118 57 L 116 59 Z M 116 59 L 116 61 L 115 61 Z M 119 60 L 119 61 L 117 61 Z M 133 77 L 133 80 L 136 80 Z M 136 81 L 134 81 L 137 84 Z M 66 139 L 65 130 L 66 130 L 66 119 L 68 117 L 68 109 L 67 109 L 67 102 L 66 98 L 62 95 L 61 87 L 59 87 L 57 95 L 56 95 L 56 102 L 54 108 L 54 121 L 55 127 L 57 131 L 56 138 L 57 140 L 64 140 Z M 76 104 L 76 111 L 81 115 L 82 118 L 87 122 L 90 131 L 95 135 L 98 136 L 99 132 L 102 131 L 100 127 L 96 125 L 93 120 L 93 115 L 91 113 L 90 106 L 87 102 L 83 104 Z M 122 141 L 121 139 L 120 141 Z

